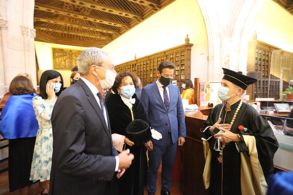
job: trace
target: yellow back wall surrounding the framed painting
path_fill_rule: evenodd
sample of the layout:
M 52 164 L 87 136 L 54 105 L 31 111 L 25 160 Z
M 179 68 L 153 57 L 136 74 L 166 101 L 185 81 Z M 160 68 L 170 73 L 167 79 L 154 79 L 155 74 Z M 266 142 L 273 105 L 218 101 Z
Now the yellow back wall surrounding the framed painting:
M 67 48 L 67 49 L 80 49 L 84 50 L 86 47 L 77 47 L 70 45 L 52 44 L 35 41 L 35 49 L 38 57 L 40 70 L 38 72 L 39 79 L 45 70 L 52 70 L 52 47 Z M 64 87 L 70 86 L 70 70 L 57 70 L 61 73 L 64 80 Z

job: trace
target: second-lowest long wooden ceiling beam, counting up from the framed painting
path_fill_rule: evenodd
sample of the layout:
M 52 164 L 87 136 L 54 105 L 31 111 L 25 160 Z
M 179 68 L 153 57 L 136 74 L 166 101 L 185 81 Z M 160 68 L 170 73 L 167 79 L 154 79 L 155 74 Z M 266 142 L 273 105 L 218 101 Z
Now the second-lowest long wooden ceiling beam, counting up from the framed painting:
M 47 22 L 47 23 L 52 23 L 52 24 L 59 24 L 59 25 L 64 25 L 64 26 L 83 28 L 83 29 L 87 29 L 87 30 L 94 30 L 94 31 L 106 32 L 106 33 L 111 33 L 111 34 L 118 34 L 118 35 L 120 34 L 120 32 L 117 30 L 110 30 L 110 29 L 106 29 L 106 28 L 94 27 L 94 26 L 90 26 L 90 25 L 73 23 L 73 22 L 68 22 L 68 21 L 64 21 L 64 20 L 46 18 L 46 17 L 42 17 L 42 16 L 35 16 L 34 19 L 37 21 Z

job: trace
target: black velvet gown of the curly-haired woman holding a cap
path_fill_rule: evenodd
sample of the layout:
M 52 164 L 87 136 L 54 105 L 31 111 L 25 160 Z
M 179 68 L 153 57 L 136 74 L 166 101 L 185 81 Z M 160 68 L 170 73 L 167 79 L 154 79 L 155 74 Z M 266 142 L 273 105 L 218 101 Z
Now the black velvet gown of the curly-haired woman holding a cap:
M 137 96 L 134 94 L 132 98 L 135 98 L 135 103 L 132 105 L 134 120 L 141 119 L 149 123 L 144 107 L 137 99 Z M 129 107 L 125 105 L 119 94 L 109 94 L 105 103 L 108 110 L 112 133 L 126 135 L 125 129 L 132 121 L 132 115 Z M 125 149 L 130 149 L 130 153 L 134 155 L 134 160 L 120 179 L 117 180 L 116 176 L 113 177 L 114 185 L 116 182 L 119 187 L 116 191 L 112 191 L 112 194 L 144 194 L 144 180 L 147 174 L 147 149 L 143 145 L 128 146 L 127 144 Z M 115 187 L 112 186 L 112 189 L 114 188 Z

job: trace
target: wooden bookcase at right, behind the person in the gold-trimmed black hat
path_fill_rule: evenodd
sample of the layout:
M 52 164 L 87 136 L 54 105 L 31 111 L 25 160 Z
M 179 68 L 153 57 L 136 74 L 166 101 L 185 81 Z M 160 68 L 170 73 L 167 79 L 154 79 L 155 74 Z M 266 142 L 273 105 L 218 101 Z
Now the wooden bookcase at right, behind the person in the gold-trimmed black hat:
M 272 51 L 278 49 L 280 48 L 257 39 L 248 42 L 247 72 L 261 72 L 262 75 L 258 82 L 248 86 L 246 94 L 250 96 L 250 99 L 267 97 L 280 98 L 280 78 L 273 75 L 270 77 Z M 269 92 L 270 94 L 268 96 Z

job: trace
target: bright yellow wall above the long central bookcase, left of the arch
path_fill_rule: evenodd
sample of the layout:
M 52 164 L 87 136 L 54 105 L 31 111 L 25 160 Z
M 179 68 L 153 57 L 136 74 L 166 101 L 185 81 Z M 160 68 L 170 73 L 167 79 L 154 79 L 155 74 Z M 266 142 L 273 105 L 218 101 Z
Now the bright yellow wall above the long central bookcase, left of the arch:
M 207 34 L 196 0 L 176 0 L 161 11 L 126 32 L 103 49 L 108 50 L 115 65 L 147 56 L 185 43 L 191 49 L 191 79 L 207 80 Z

